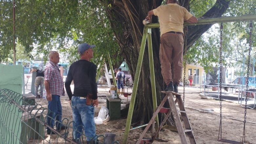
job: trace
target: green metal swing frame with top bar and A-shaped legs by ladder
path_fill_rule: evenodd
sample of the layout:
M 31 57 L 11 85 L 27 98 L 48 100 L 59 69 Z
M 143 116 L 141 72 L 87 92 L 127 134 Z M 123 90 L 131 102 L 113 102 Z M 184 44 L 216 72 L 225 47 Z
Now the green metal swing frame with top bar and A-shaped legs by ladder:
M 250 21 L 250 20 L 256 20 L 256 14 L 236 16 L 236 17 L 201 19 L 196 24 L 184 23 L 184 26 L 215 24 L 215 23 L 220 23 L 220 22 Z M 125 131 L 124 131 L 124 135 L 123 135 L 123 144 L 127 144 L 128 136 L 129 136 L 129 132 L 130 132 L 130 126 L 131 126 L 131 122 L 132 122 L 132 115 L 133 115 L 133 110 L 134 110 L 134 105 L 135 105 L 135 99 L 136 99 L 136 94 L 137 94 L 138 85 L 139 85 L 139 76 L 140 76 L 140 72 L 141 72 L 141 66 L 142 66 L 142 60 L 143 60 L 144 51 L 145 51 L 146 40 L 148 40 L 148 53 L 149 53 L 149 66 L 150 66 L 150 76 L 151 76 L 150 78 L 151 78 L 151 87 L 152 87 L 153 108 L 156 109 L 156 107 L 157 107 L 151 29 L 159 28 L 159 27 L 160 27 L 159 23 L 155 23 L 155 24 L 145 25 L 144 29 L 143 29 L 143 36 L 142 36 L 140 50 L 139 50 L 138 64 L 137 64 L 135 78 L 134 78 L 133 92 L 132 92 L 129 111 L 128 111 L 128 115 L 127 115 Z M 158 127 L 158 124 L 159 124 L 158 117 L 156 117 L 156 118 L 157 118 L 156 126 Z

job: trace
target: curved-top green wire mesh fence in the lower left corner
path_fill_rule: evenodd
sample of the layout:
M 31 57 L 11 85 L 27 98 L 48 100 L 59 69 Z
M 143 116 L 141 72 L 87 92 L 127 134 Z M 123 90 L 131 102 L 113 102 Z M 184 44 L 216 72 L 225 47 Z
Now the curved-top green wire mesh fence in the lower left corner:
M 26 99 L 14 91 L 0 89 L 0 143 L 87 143 L 83 126 L 81 126 L 82 131 L 73 130 L 73 121 L 68 118 L 61 118 L 61 122 L 57 121 L 65 126 L 63 130 L 58 131 L 56 127 L 49 126 L 47 118 L 51 118 L 56 123 L 56 118 L 50 117 L 51 113 L 53 112 L 37 104 L 34 99 Z M 51 134 L 47 134 L 47 128 L 52 131 Z M 79 140 L 74 140 L 74 131 L 81 133 Z M 96 136 L 96 139 L 95 143 L 105 143 L 104 135 Z

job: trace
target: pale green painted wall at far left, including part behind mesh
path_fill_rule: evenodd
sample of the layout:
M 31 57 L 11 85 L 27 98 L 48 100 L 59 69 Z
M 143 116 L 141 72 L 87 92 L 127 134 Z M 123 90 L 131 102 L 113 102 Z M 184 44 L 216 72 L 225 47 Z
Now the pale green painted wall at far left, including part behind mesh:
M 22 65 L 0 64 L 0 143 L 19 143 L 22 112 L 9 101 L 14 99 L 18 104 L 22 104 L 22 82 Z

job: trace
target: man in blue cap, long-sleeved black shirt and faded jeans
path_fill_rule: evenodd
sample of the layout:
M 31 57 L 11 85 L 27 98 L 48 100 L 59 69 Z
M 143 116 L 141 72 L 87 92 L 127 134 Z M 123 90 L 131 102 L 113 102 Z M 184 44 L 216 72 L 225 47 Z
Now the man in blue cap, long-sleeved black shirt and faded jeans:
M 90 59 L 93 58 L 92 47 L 95 45 L 86 43 L 78 45 L 80 60 L 71 64 L 65 82 L 73 112 L 73 136 L 77 143 L 80 143 L 82 129 L 84 129 L 87 144 L 95 144 L 96 141 L 94 106 L 98 105 L 98 97 L 96 65 L 90 62 Z M 70 88 L 72 80 L 74 81 L 73 95 Z M 92 96 L 92 100 L 88 102 L 90 96 Z

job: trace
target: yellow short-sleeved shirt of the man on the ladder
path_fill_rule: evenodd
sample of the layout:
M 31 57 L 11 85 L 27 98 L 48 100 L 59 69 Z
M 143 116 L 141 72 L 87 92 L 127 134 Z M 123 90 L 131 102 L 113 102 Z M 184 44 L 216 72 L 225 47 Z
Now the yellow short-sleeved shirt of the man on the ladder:
M 162 5 L 153 9 L 153 12 L 159 18 L 161 35 L 169 31 L 183 33 L 184 19 L 188 20 L 193 16 L 178 4 Z

